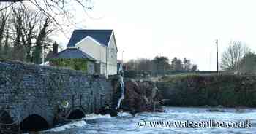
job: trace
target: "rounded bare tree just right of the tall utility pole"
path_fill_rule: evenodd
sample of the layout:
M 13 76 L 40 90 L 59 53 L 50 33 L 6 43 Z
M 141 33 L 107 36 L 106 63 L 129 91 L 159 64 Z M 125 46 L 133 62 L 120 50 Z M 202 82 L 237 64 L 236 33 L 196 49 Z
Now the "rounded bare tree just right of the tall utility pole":
M 247 52 L 249 52 L 249 48 L 242 42 L 230 42 L 230 46 L 222 53 L 221 68 L 224 70 L 238 70 L 239 62 Z

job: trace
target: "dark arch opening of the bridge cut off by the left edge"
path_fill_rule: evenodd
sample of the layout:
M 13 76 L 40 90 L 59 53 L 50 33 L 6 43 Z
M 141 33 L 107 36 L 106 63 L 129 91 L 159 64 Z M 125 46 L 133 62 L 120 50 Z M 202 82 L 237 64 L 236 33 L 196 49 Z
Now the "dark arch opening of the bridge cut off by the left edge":
M 18 132 L 18 125 L 5 110 L 0 110 L 0 133 Z

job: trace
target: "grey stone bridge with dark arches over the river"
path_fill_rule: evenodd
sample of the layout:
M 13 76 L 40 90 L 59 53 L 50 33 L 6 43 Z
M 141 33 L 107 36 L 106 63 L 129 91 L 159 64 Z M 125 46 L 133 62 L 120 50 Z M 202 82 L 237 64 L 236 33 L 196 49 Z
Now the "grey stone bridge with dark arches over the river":
M 1 61 L 0 133 L 44 130 L 61 119 L 83 117 L 110 104 L 112 94 L 111 82 L 102 76 Z

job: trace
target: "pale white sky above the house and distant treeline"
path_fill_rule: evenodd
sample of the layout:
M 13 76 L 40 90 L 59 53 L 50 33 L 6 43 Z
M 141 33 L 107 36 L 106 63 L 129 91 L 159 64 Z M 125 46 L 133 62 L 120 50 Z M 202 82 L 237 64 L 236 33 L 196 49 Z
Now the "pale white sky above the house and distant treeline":
M 256 1 L 249 0 L 92 0 L 93 9 L 77 9 L 79 29 L 113 29 L 118 59 L 155 56 L 187 58 L 200 71 L 216 70 L 230 41 L 256 50 Z M 72 30 L 57 36 L 66 46 Z

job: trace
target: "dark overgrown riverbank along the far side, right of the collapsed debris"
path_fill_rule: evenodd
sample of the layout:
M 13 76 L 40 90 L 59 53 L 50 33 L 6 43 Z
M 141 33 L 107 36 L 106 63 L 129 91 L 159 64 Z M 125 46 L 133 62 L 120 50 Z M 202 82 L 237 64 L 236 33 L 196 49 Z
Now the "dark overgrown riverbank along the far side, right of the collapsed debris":
M 157 82 L 167 106 L 256 107 L 256 76 L 177 75 Z

